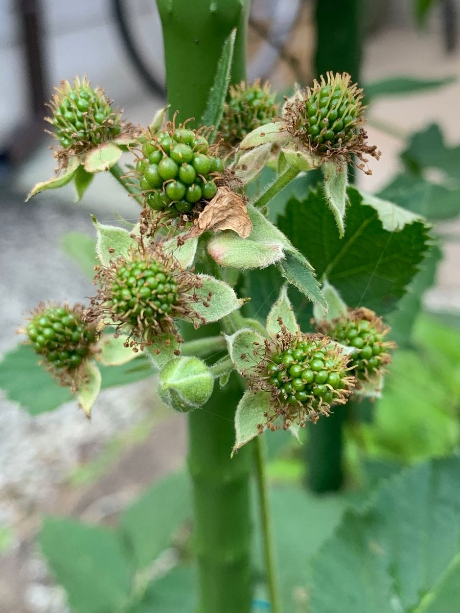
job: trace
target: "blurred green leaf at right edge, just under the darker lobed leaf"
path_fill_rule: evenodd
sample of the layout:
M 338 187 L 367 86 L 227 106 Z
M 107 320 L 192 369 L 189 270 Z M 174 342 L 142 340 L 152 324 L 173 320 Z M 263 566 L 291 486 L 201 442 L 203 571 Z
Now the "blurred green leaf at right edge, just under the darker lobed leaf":
M 434 221 L 460 215 L 460 186 L 453 181 L 431 183 L 404 173 L 396 175 L 378 196 Z

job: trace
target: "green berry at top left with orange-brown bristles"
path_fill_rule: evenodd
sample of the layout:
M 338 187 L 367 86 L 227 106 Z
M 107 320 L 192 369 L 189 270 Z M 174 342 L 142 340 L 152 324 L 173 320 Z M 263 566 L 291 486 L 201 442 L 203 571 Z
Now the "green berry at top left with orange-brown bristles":
M 115 139 L 121 132 L 120 113 L 100 88 L 93 89 L 86 78 L 75 77 L 73 86 L 63 81 L 52 100 L 56 137 L 64 149 L 75 151 Z

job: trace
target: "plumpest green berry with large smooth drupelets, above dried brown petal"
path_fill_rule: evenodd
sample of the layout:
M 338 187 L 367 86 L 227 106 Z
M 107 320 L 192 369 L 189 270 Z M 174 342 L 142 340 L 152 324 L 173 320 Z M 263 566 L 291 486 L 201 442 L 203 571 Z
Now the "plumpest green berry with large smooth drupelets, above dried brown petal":
M 217 194 L 215 180 L 223 171 L 209 142 L 188 128 L 160 132 L 142 145 L 137 172 L 147 205 L 172 216 L 190 213 Z

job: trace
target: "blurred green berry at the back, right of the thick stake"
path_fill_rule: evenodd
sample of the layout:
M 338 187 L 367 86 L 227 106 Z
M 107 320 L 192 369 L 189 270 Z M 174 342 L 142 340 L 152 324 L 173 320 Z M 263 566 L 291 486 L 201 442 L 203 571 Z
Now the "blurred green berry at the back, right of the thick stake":
M 236 147 L 249 132 L 269 123 L 277 114 L 278 105 L 268 83 L 261 86 L 256 80 L 252 85 L 242 82 L 231 86 L 220 123 L 220 137 Z

